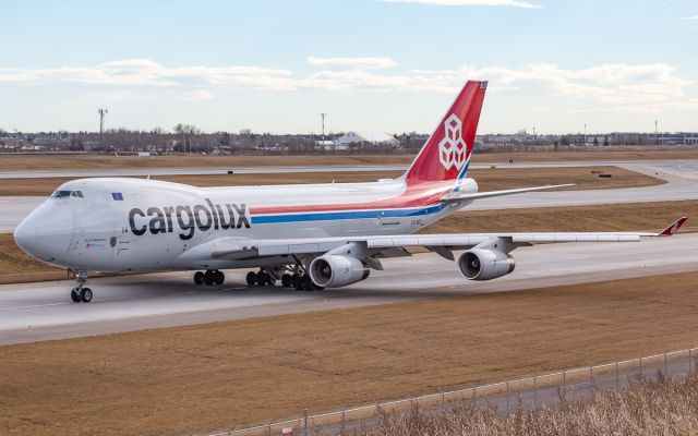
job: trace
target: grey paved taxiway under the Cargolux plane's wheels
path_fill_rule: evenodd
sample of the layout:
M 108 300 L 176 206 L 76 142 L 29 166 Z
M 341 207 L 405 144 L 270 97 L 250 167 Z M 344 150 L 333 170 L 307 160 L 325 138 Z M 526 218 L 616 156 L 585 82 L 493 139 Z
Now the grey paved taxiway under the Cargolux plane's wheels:
M 226 284 L 210 288 L 195 287 L 191 272 L 95 279 L 89 304 L 70 302 L 72 281 L 5 284 L 0 286 L 0 344 L 693 271 L 696 246 L 698 234 L 525 247 L 514 252 L 512 275 L 488 282 L 467 281 L 454 263 L 423 254 L 384 261 L 385 271 L 321 292 L 248 288 L 244 270 L 226 271 Z

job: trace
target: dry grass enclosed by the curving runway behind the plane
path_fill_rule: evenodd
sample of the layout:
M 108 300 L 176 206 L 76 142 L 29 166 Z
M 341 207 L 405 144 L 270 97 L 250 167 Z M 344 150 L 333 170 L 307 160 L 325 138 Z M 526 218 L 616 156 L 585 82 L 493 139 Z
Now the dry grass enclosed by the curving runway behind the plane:
M 591 171 L 611 173 L 611 179 L 601 179 Z M 396 178 L 400 171 L 359 171 L 359 172 L 297 172 L 277 174 L 214 174 L 214 175 L 167 175 L 158 180 L 186 183 L 195 186 L 237 186 L 253 184 L 288 184 L 288 183 L 329 183 L 335 182 L 370 182 L 383 178 Z M 617 167 L 573 167 L 573 168 L 537 168 L 510 169 L 496 168 L 470 170 L 480 191 L 505 190 L 521 186 L 545 184 L 576 183 L 574 190 L 594 190 L 610 187 L 650 186 L 663 183 L 662 180 L 640 174 Z M 71 178 L 47 179 L 3 179 L 0 184 L 0 196 L 4 195 L 49 195 Z

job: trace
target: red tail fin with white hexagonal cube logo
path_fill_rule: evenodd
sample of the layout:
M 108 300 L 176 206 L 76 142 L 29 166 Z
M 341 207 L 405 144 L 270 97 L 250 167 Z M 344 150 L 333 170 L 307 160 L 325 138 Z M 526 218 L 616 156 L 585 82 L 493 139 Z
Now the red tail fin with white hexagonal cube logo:
M 472 145 L 488 82 L 468 81 L 448 112 L 405 173 L 407 184 L 462 179 L 468 172 Z

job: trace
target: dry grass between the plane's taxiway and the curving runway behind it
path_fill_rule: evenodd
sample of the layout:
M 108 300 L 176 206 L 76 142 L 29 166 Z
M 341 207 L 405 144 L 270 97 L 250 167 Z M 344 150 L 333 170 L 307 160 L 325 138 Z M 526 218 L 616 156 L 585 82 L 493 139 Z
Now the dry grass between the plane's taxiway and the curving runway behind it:
M 698 202 L 473 210 L 455 214 L 426 228 L 424 232 L 660 231 L 682 216 L 697 217 Z M 682 231 L 698 231 L 698 220 L 689 219 Z M 24 254 L 14 243 L 12 234 L 0 233 L 0 283 L 61 280 L 65 277 L 64 270 L 47 266 Z

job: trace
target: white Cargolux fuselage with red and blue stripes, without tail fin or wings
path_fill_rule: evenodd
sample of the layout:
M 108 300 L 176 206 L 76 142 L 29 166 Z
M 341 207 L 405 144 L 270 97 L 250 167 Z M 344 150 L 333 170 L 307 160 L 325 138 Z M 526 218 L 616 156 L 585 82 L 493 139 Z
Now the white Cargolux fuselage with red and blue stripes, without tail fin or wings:
M 48 198 L 15 234 L 44 262 L 75 270 L 254 267 L 288 259 L 188 264 L 182 254 L 218 238 L 244 240 L 412 233 L 465 204 L 438 198 L 454 182 L 196 187 L 143 179 L 82 179 Z M 460 192 L 477 192 L 471 179 Z M 19 228 L 20 229 L 20 228 Z M 33 239 L 35 235 L 35 239 Z M 34 243 L 33 243 L 34 241 Z

